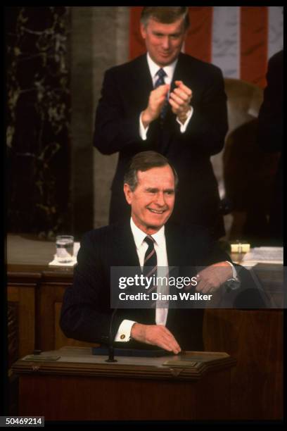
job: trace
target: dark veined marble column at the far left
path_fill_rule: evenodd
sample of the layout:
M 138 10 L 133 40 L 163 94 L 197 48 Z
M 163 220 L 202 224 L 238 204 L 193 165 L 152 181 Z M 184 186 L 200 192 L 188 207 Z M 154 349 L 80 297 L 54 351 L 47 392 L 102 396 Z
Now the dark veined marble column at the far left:
M 6 7 L 8 230 L 70 229 L 69 9 Z

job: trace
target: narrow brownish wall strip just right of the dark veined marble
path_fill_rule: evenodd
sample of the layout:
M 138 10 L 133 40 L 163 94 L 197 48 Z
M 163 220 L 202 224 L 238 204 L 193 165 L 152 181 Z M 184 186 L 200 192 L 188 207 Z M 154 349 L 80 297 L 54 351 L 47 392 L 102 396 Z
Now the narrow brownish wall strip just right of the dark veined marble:
M 93 227 L 93 8 L 71 13 L 71 149 L 72 227 L 75 235 Z

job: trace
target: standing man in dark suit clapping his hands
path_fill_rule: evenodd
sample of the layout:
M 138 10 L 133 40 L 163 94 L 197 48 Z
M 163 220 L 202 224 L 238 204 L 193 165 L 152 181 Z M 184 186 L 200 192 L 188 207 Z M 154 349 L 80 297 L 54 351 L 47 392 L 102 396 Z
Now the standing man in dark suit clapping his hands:
M 144 7 L 141 35 L 148 53 L 106 71 L 94 146 L 103 154 L 119 152 L 110 223 L 129 216 L 122 196 L 127 163 L 154 150 L 179 175 L 172 220 L 200 223 L 219 238 L 224 223 L 210 156 L 222 150 L 227 132 L 224 81 L 215 65 L 181 53 L 188 26 L 186 7 Z

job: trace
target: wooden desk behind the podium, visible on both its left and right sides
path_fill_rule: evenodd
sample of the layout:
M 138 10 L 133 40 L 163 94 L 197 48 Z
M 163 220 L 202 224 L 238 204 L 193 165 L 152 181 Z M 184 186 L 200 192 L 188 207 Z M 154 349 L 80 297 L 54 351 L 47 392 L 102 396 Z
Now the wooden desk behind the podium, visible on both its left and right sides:
M 9 254 L 8 247 L 10 364 L 32 354 L 34 349 L 52 351 L 63 346 L 93 345 L 67 339 L 59 327 L 63 294 L 72 283 L 72 268 L 47 266 L 54 244 L 41 242 L 34 248 L 34 242 L 29 241 L 14 241 L 15 253 L 10 247 Z M 264 286 L 276 299 L 272 279 L 273 273 L 271 278 L 264 277 Z M 207 309 L 203 339 L 205 350 L 224 351 L 238 361 L 231 370 L 231 418 L 281 419 L 283 310 Z

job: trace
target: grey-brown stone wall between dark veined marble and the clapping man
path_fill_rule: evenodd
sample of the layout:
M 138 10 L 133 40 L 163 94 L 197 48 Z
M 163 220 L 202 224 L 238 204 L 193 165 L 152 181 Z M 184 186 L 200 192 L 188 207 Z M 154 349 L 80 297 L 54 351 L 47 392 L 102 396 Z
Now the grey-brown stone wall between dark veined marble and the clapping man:
M 72 220 L 80 234 L 108 224 L 118 156 L 92 146 L 94 118 L 105 71 L 128 61 L 129 6 L 72 6 L 70 12 Z

